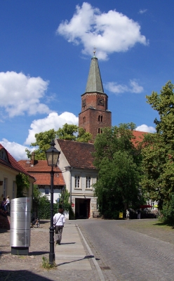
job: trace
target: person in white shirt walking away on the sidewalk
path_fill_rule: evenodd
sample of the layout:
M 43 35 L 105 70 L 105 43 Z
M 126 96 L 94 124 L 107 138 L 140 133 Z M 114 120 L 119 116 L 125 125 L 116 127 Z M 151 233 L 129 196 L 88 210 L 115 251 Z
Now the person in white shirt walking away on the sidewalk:
M 60 244 L 62 240 L 62 230 L 65 223 L 65 216 L 63 214 L 63 209 L 58 209 L 58 214 L 53 216 L 53 224 L 55 226 L 55 237 L 56 244 Z

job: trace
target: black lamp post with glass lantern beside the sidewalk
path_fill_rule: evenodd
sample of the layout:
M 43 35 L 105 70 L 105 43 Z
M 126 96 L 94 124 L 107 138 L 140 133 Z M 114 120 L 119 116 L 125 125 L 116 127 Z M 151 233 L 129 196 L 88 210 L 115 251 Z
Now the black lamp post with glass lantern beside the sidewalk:
M 55 252 L 54 252 L 54 226 L 53 226 L 53 193 L 54 193 L 54 171 L 53 167 L 58 165 L 60 151 L 55 148 L 55 141 L 51 141 L 51 148 L 46 150 L 46 159 L 48 166 L 51 166 L 51 226 L 50 226 L 50 253 L 49 253 L 49 263 L 53 264 L 55 261 Z

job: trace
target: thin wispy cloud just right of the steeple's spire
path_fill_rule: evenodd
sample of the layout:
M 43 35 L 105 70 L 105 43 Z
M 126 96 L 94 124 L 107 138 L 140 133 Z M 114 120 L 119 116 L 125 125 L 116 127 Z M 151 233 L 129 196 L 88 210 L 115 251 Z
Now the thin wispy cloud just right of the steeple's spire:
M 117 84 L 116 82 L 108 82 L 105 84 L 105 88 L 112 93 L 142 93 L 142 91 L 144 91 L 143 87 L 138 85 L 135 79 L 129 81 L 129 86 Z

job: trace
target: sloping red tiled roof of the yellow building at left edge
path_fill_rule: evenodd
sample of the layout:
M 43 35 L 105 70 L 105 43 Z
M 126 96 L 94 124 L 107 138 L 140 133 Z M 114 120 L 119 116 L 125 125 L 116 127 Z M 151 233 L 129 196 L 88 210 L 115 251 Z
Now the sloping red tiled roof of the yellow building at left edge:
M 6 151 L 6 154 L 8 156 L 8 162 L 4 161 L 3 159 L 0 159 L 0 164 L 4 166 L 8 166 L 8 168 L 13 169 L 15 171 L 19 171 L 20 173 L 23 173 L 27 176 L 30 176 L 27 171 L 24 169 L 24 167 L 20 166 L 20 164 L 11 156 L 11 154 L 4 148 L 3 145 L 0 143 L 0 150 L 4 149 Z

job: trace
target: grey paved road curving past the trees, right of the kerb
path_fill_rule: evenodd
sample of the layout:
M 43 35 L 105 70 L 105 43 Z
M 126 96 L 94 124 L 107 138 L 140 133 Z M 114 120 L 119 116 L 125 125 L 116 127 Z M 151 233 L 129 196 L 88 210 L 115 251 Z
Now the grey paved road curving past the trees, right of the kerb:
M 153 233 L 148 235 L 148 231 L 140 233 L 140 224 L 143 226 L 145 220 L 96 219 L 76 223 L 102 268 L 105 280 L 174 280 L 174 244 L 163 241 L 165 239 L 157 234 L 157 238 L 152 237 Z

